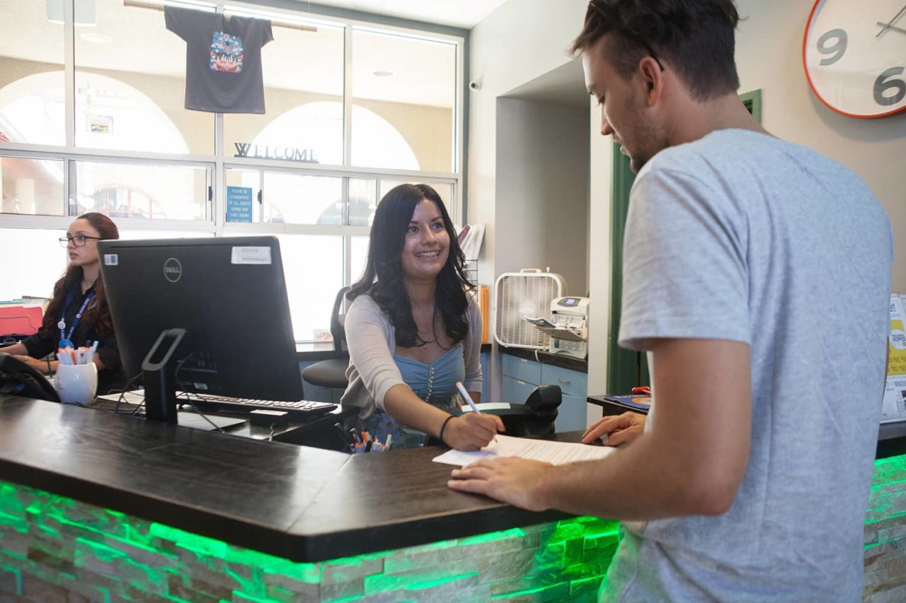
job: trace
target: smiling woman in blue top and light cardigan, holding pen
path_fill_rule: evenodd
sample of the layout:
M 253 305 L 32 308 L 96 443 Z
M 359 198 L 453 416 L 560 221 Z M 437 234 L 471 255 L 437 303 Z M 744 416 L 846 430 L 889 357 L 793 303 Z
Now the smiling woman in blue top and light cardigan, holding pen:
M 458 450 L 487 445 L 503 422 L 459 415 L 456 383 L 481 396 L 481 320 L 465 259 L 437 191 L 400 185 L 381 199 L 368 260 L 347 294 L 350 364 L 342 405 L 394 447 L 437 437 Z

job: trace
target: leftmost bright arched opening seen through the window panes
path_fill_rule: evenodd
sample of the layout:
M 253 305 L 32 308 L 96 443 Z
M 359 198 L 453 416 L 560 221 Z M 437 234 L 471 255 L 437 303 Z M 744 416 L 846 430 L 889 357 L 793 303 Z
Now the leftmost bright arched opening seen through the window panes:
M 78 146 L 113 150 L 140 146 L 149 152 L 188 153 L 176 124 L 129 84 L 106 75 L 76 72 L 75 91 Z M 10 142 L 63 146 L 64 111 L 63 72 L 34 73 L 0 89 L 0 132 Z M 49 184 L 41 182 L 44 178 L 63 182 L 60 161 L 34 164 L 41 166 L 40 173 L 30 175 L 37 187 Z M 184 199 L 193 195 L 193 178 L 180 171 L 161 179 L 157 170 L 142 165 L 102 162 L 79 162 L 78 170 L 79 212 L 178 218 L 186 213 L 181 207 Z M 180 207 L 168 207 L 169 200 L 178 200 Z

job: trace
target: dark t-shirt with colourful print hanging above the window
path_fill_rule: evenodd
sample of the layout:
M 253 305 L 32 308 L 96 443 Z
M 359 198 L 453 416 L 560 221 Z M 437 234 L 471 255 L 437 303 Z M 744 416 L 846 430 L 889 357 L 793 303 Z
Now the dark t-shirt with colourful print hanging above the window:
M 186 41 L 186 109 L 265 112 L 261 47 L 274 39 L 270 21 L 174 6 L 164 17 Z

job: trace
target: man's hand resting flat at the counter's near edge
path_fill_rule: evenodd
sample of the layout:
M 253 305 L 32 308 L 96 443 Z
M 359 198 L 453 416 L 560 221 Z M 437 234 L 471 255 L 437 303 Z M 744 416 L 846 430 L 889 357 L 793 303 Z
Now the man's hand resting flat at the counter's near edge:
M 553 464 L 529 461 L 516 456 L 486 459 L 454 469 L 447 485 L 452 490 L 484 494 L 529 511 L 545 511 L 540 485 L 554 469 Z

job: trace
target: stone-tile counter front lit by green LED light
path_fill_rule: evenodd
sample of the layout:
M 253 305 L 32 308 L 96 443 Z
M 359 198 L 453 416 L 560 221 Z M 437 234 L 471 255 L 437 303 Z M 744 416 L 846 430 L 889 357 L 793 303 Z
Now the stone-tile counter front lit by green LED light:
M 900 484 L 906 485 L 906 455 L 875 463 L 865 526 L 886 523 L 869 535 L 864 550 L 875 552 L 868 554 L 884 556 L 876 548 L 900 538 L 896 528 L 906 516 L 897 501 Z M 888 533 L 894 536 L 884 540 Z M 435 589 L 450 598 L 460 587 L 489 589 L 495 599 L 584 597 L 600 585 L 619 535 L 618 522 L 578 517 L 300 563 L 0 481 L 6 588 L 27 589 L 34 576 L 92 600 L 403 601 L 430 600 Z

